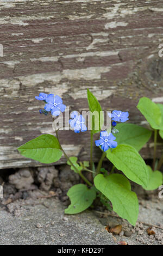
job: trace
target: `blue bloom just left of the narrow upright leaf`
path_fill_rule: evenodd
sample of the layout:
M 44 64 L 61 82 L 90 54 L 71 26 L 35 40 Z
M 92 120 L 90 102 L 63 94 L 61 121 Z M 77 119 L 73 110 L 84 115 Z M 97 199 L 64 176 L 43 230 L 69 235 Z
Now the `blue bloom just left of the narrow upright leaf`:
M 84 124 L 85 119 L 83 115 L 79 115 L 77 111 L 71 113 L 71 118 L 69 120 L 70 126 L 73 128 L 74 132 L 79 133 L 85 132 L 87 130 L 86 125 Z

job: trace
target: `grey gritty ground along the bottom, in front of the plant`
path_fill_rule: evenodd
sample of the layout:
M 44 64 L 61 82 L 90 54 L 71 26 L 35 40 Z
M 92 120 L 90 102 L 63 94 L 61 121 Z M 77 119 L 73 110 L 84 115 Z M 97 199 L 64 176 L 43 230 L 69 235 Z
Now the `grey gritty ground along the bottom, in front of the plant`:
M 30 196 L 0 207 L 1 245 L 162 245 L 163 204 L 158 196 L 139 199 L 136 227 L 101 208 L 65 215 L 65 202 L 55 192 L 35 190 Z M 7 202 L 8 203 L 8 202 Z M 110 216 L 111 215 L 111 216 Z M 115 216 L 114 216 L 115 215 Z M 105 227 L 122 224 L 118 235 Z M 147 234 L 151 227 L 153 235 Z

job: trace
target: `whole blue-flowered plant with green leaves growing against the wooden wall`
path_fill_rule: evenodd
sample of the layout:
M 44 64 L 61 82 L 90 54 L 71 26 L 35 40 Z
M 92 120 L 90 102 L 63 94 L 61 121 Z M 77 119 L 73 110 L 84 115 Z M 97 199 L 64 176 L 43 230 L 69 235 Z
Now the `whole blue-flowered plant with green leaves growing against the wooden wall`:
M 51 113 L 53 120 L 66 109 L 61 97 L 58 95 L 40 93 L 35 98 L 45 102 L 44 109 L 39 111 L 40 114 L 47 115 Z M 80 162 L 76 156 L 67 156 L 60 144 L 59 131 L 56 128 L 56 137 L 48 134 L 41 135 L 23 144 L 18 148 L 18 151 L 23 156 L 41 163 L 57 162 L 64 154 L 72 171 L 80 175 L 84 183 L 74 185 L 68 190 L 67 196 L 70 197 L 71 204 L 65 209 L 65 214 L 78 214 L 84 211 L 98 197 L 104 207 L 108 210 L 114 210 L 120 217 L 135 225 L 139 214 L 139 203 L 136 193 L 131 191 L 129 180 L 141 185 L 145 190 L 155 190 L 162 185 L 162 174 L 158 169 L 163 164 L 163 155 L 160 160 L 157 159 L 156 145 L 158 131 L 163 139 L 163 105 L 156 104 L 147 97 L 140 99 L 137 108 L 151 125 L 150 130 L 126 123 L 129 120 L 129 113 L 114 110 L 109 113 L 111 119 L 109 131 L 102 131 L 104 123 L 102 107 L 89 89 L 87 89 L 87 101 L 90 113 L 98 113 L 98 117 L 95 118 L 90 115 L 92 119 L 90 161 Z M 81 131 L 84 132 L 83 136 L 86 136 L 86 121 L 82 114 L 73 111 L 70 115 L 69 124 L 75 133 Z M 152 170 L 140 156 L 139 150 L 151 138 L 153 131 L 154 157 Z M 96 133 L 99 133 L 98 137 Z M 97 164 L 93 162 L 93 145 L 99 148 L 96 148 L 98 153 L 102 152 Z M 108 168 L 106 169 L 102 167 L 105 159 L 109 160 Z M 121 173 L 116 173 L 116 170 L 121 171 Z M 90 172 L 92 178 L 87 179 L 83 171 Z

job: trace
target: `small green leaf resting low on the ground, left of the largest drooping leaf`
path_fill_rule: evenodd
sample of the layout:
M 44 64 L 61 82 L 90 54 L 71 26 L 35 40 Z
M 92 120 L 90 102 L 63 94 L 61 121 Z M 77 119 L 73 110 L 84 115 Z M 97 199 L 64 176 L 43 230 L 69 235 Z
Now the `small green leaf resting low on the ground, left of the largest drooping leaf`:
M 68 190 L 67 196 L 70 197 L 71 204 L 65 210 L 65 214 L 78 214 L 91 206 L 96 198 L 96 191 L 84 184 L 78 184 Z

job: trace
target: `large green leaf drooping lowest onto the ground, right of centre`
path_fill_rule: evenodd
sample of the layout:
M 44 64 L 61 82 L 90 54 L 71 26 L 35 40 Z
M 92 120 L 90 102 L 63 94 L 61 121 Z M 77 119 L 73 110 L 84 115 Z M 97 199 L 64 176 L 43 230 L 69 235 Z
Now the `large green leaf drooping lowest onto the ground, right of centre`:
M 131 191 L 128 179 L 122 174 L 111 174 L 106 178 L 98 174 L 94 182 L 96 188 L 111 201 L 113 210 L 135 225 L 139 214 L 139 202 L 135 192 Z

